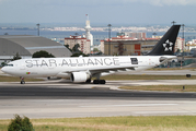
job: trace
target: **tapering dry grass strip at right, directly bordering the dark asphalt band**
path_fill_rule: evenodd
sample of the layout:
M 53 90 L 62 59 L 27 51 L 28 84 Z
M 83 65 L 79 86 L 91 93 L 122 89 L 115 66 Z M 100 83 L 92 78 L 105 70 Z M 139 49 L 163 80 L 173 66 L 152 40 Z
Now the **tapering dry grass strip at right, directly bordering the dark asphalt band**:
M 196 85 L 142 85 L 142 86 L 122 86 L 122 90 L 136 91 L 166 91 L 166 92 L 196 92 Z

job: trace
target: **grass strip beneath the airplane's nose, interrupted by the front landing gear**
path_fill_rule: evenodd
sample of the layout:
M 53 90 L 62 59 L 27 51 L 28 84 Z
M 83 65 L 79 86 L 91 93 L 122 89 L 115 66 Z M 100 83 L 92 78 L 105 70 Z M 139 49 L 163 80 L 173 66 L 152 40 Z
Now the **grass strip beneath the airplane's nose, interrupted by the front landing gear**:
M 43 81 L 41 79 L 30 79 L 30 78 L 25 78 L 24 79 L 25 82 L 36 82 L 36 81 Z M 20 78 L 16 76 L 4 76 L 4 75 L 0 75 L 0 82 L 20 82 Z

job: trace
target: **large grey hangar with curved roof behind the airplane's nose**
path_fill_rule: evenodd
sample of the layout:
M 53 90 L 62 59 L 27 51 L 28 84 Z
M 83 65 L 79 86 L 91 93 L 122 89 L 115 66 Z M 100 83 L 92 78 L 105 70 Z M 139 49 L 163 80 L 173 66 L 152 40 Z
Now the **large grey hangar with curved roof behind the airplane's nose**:
M 19 53 L 23 59 L 32 58 L 36 51 L 45 50 L 55 57 L 69 57 L 72 53 L 61 44 L 31 35 L 0 36 L 0 63 L 13 59 Z

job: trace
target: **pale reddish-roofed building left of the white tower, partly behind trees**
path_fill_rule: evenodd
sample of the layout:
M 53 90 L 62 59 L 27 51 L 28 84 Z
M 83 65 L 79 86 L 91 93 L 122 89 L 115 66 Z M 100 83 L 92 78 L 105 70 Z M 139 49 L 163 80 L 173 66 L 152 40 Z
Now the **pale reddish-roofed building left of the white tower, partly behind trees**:
M 83 53 L 88 55 L 91 52 L 91 41 L 90 39 L 87 39 L 81 36 L 71 36 L 68 38 L 65 38 L 65 45 L 69 45 L 69 48 L 72 49 L 76 44 L 80 45 L 79 50 Z

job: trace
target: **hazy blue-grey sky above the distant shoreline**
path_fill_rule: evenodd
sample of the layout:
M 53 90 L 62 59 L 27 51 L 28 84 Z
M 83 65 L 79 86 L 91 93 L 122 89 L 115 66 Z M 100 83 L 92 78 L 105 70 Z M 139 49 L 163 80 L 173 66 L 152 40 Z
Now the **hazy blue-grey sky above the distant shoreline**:
M 0 0 L 0 23 L 196 24 L 196 0 Z

